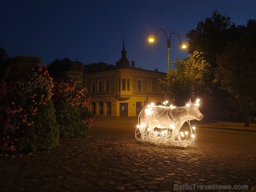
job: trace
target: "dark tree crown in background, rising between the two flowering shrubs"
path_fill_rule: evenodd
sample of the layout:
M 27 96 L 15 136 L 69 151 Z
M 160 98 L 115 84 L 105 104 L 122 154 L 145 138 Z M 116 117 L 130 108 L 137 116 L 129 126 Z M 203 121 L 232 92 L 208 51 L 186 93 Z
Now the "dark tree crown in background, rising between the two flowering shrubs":
M 50 76 L 55 79 L 60 77 L 61 71 L 69 71 L 70 67 L 72 66 L 73 62 L 65 57 L 64 59 L 55 59 L 52 63 L 48 66 L 48 71 Z

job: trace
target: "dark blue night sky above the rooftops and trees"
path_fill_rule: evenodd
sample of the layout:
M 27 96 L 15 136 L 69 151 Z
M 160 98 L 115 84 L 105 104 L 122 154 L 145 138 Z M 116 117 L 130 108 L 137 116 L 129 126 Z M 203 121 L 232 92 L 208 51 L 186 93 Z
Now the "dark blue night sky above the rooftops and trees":
M 255 0 L 4 0 L 0 8 L 0 46 L 11 57 L 38 56 L 43 64 L 68 57 L 84 64 L 116 64 L 123 33 L 127 58 L 136 67 L 167 71 L 163 29 L 187 43 L 186 33 L 217 10 L 236 25 L 256 19 Z M 172 35 L 170 61 L 188 57 Z

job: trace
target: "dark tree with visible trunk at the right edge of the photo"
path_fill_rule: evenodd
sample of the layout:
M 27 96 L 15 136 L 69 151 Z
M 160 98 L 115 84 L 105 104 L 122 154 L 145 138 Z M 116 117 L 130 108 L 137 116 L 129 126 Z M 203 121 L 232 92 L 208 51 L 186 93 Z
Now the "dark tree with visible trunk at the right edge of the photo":
M 249 126 L 248 104 L 256 99 L 256 20 L 248 20 L 240 28 L 244 35 L 229 43 L 218 57 L 215 81 L 244 104 L 244 126 Z

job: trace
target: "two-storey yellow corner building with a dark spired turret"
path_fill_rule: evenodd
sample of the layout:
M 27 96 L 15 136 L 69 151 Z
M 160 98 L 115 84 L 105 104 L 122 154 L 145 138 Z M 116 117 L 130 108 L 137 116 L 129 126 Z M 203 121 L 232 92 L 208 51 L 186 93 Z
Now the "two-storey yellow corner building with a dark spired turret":
M 166 74 L 142 68 L 130 67 L 126 51 L 108 71 L 87 74 L 87 89 L 91 95 L 90 110 L 94 115 L 132 117 L 139 114 L 141 106 L 163 102 L 163 87 L 158 79 Z

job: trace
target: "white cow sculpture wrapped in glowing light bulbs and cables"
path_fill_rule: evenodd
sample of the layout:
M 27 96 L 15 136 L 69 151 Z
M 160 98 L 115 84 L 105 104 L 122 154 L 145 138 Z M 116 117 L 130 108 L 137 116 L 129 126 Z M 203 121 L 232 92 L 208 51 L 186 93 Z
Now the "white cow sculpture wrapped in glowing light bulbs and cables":
M 190 126 L 190 120 L 202 120 L 203 114 L 199 111 L 199 99 L 191 103 L 191 99 L 186 106 L 155 106 L 151 103 L 146 109 L 143 109 L 138 118 L 138 126 L 135 137 L 141 142 L 150 142 L 160 146 L 191 146 L 196 147 L 195 127 Z M 189 123 L 190 133 L 180 132 L 185 122 Z M 154 129 L 157 128 L 158 131 Z M 139 129 L 139 131 L 137 131 Z M 140 137 L 138 134 L 140 133 Z M 189 136 L 190 135 L 190 136 Z

